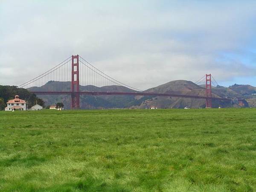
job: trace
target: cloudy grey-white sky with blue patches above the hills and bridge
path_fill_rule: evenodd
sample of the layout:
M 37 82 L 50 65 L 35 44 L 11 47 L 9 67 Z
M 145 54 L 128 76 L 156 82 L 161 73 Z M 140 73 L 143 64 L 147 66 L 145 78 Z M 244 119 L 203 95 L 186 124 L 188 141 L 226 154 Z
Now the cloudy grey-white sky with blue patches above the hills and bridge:
M 256 86 L 256 1 L 0 0 L 0 84 L 75 54 L 143 90 L 205 73 Z

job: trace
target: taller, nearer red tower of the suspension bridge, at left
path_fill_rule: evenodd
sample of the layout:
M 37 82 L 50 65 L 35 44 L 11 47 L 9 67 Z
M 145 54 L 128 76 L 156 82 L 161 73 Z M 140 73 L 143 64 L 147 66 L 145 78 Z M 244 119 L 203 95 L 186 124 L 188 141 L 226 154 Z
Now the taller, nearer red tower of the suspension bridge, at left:
M 72 55 L 71 91 L 71 108 L 80 109 L 79 55 Z

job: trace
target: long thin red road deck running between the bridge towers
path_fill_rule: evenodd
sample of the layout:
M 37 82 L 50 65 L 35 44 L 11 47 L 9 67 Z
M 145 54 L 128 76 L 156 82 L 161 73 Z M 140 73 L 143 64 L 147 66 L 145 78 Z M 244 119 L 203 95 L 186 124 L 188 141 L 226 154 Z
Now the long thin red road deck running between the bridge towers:
M 132 96 L 163 96 L 163 97 L 182 97 L 182 98 L 192 98 L 192 99 L 207 99 L 206 96 L 191 96 L 191 95 L 177 95 L 177 94 L 166 94 L 166 93 L 144 93 L 144 92 L 93 92 L 93 91 L 79 91 L 79 92 L 71 92 L 71 91 L 31 91 L 36 95 L 72 95 L 72 94 L 79 94 L 79 95 L 132 95 Z M 228 98 L 218 98 L 218 97 L 211 97 L 208 99 L 215 99 L 219 101 L 226 101 L 231 102 L 232 99 Z

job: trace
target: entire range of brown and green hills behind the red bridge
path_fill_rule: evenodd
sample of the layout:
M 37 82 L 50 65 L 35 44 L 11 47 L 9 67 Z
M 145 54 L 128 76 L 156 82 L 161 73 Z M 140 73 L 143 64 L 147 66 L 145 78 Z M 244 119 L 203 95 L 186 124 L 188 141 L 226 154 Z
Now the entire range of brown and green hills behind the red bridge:
M 69 91 L 71 83 L 61 81 L 49 81 L 41 87 L 31 87 L 32 91 Z M 111 91 L 111 92 L 134 92 L 127 87 L 118 85 L 96 87 L 93 85 L 80 86 L 81 91 Z M 159 85 L 157 87 L 145 90 L 146 93 L 169 93 L 169 94 L 184 94 L 193 96 L 205 96 L 205 89 L 203 86 L 198 86 L 192 81 L 177 80 Z M 256 97 L 251 94 L 256 93 L 256 87 L 250 85 L 232 85 L 230 87 L 212 87 L 212 95 L 214 97 L 227 98 L 245 98 L 250 99 L 251 106 L 256 106 Z M 50 95 L 39 96 L 44 99 L 46 105 L 53 105 L 57 102 L 63 102 L 65 108 L 70 108 L 70 96 L 65 95 Z M 255 104 L 254 104 L 255 103 Z M 157 108 L 205 108 L 204 99 L 190 99 L 177 97 L 152 97 L 152 96 L 81 96 L 80 106 L 82 109 L 102 109 L 102 108 L 150 108 L 156 106 Z M 229 102 L 213 101 L 212 106 L 218 107 L 239 107 L 237 104 Z

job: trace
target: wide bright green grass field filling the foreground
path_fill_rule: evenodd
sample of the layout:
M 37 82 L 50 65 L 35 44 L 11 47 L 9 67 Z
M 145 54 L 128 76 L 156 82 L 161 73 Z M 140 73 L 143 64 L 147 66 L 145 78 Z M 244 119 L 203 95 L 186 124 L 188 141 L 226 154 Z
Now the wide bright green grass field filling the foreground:
M 1 111 L 0 191 L 253 192 L 256 109 Z

